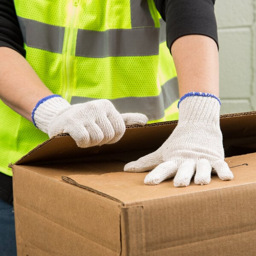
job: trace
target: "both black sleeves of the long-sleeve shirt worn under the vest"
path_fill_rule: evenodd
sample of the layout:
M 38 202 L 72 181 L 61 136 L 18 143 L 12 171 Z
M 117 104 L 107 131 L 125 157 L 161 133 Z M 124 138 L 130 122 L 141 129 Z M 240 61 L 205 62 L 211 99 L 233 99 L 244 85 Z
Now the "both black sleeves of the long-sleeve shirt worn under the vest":
M 166 41 L 173 42 L 183 35 L 206 35 L 218 45 L 214 15 L 215 0 L 154 0 L 166 21 Z M 25 57 L 23 38 L 13 0 L 0 0 L 0 47 L 12 48 Z

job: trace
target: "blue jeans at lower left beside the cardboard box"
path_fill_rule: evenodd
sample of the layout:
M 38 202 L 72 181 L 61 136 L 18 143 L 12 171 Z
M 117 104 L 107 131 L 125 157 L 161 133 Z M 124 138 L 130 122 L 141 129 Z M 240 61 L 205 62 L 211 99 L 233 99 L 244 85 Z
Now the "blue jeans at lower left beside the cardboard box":
M 17 256 L 13 205 L 0 199 L 0 255 Z

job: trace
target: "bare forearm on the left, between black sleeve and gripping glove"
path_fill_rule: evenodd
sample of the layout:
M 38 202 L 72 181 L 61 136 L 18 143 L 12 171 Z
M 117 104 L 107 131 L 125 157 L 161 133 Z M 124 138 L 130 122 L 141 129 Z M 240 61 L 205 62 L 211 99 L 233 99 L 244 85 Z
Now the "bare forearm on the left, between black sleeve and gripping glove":
M 0 47 L 0 60 L 0 99 L 31 121 L 36 103 L 52 92 L 15 50 Z

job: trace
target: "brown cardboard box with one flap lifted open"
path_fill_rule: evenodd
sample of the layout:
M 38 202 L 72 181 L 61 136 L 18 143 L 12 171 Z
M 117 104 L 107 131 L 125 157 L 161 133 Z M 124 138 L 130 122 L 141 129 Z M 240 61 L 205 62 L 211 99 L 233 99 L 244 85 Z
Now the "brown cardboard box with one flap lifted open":
M 101 147 L 78 148 L 67 134 L 46 141 L 12 165 L 18 255 L 256 255 L 255 121 L 221 117 L 234 179 L 207 186 L 148 186 L 146 173 L 123 172 L 177 122 L 130 127 Z

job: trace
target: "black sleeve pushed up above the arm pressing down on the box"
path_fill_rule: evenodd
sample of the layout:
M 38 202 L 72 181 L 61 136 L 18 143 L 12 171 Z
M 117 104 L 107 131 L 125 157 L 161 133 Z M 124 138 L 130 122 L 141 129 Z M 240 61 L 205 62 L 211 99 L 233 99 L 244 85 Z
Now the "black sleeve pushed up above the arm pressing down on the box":
M 206 35 L 218 46 L 215 0 L 154 0 L 158 12 L 166 21 L 166 41 L 171 49 L 183 35 Z

